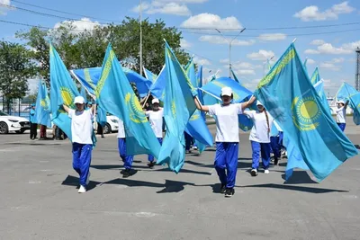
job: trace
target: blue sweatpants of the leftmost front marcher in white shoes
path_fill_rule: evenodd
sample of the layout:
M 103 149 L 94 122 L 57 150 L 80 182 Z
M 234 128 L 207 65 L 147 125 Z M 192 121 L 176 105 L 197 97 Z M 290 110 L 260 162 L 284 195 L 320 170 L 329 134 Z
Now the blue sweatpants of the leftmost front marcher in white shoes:
M 80 185 L 84 187 L 86 187 L 92 151 L 92 144 L 73 143 L 73 168 L 80 176 Z

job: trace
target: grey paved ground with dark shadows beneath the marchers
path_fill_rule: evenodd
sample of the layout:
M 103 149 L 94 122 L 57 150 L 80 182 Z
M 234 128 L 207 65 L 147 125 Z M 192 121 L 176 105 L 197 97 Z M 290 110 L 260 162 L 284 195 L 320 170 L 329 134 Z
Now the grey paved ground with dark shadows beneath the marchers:
M 360 144 L 360 128 L 350 125 Z M 2 135 L 0 239 L 359 239 L 359 156 L 320 184 L 302 171 L 284 184 L 284 162 L 269 175 L 247 173 L 247 138 L 240 134 L 236 193 L 225 199 L 216 193 L 213 148 L 187 156 L 177 175 L 137 156 L 139 172 L 122 179 L 116 136 L 100 138 L 91 190 L 77 194 L 68 141 Z

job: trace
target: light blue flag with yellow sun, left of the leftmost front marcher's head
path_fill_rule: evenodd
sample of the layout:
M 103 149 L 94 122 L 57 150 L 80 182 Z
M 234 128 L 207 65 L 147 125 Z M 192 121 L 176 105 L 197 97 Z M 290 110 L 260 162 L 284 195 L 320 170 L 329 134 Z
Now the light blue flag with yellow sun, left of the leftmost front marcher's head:
M 67 71 L 63 61 L 58 56 L 57 50 L 50 44 L 50 108 L 52 121 L 58 128 L 63 130 L 71 140 L 71 120 L 67 112 L 63 110 L 65 104 L 75 109 L 74 98 L 80 94 Z

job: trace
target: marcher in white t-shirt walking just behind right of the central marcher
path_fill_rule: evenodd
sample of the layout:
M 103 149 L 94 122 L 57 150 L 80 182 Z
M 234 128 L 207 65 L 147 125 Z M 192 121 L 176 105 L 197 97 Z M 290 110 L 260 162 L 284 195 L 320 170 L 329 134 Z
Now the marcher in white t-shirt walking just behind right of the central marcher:
M 257 176 L 260 162 L 260 153 L 264 167 L 264 173 L 269 173 L 270 165 L 270 130 L 273 125 L 273 118 L 267 113 L 263 103 L 257 101 L 257 111 L 244 111 L 248 118 L 253 120 L 254 126 L 251 129 L 249 140 L 253 150 L 253 164 L 251 175 Z

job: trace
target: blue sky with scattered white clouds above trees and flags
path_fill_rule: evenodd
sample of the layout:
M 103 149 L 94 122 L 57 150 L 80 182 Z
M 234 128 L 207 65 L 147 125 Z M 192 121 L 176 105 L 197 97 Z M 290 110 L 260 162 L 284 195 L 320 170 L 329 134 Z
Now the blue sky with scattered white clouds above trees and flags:
M 0 39 L 17 41 L 14 33 L 29 28 L 6 22 L 56 28 L 66 21 L 28 10 L 75 19 L 76 28 L 84 30 L 95 24 L 121 22 L 125 16 L 139 17 L 139 2 L 0 0 Z M 344 81 L 354 85 L 355 49 L 360 47 L 358 0 L 143 0 L 141 6 L 143 18 L 150 22 L 161 18 L 167 26 L 183 32 L 182 47 L 203 65 L 204 76 L 216 72 L 217 76 L 229 76 L 229 41 L 234 39 L 232 68 L 242 83 L 254 90 L 266 74 L 267 59 L 274 57 L 270 61 L 274 64 L 296 38 L 300 57 L 308 58 L 309 75 L 319 67 L 326 93 L 333 96 Z M 35 87 L 35 81 L 30 83 Z

